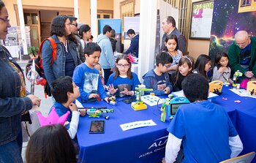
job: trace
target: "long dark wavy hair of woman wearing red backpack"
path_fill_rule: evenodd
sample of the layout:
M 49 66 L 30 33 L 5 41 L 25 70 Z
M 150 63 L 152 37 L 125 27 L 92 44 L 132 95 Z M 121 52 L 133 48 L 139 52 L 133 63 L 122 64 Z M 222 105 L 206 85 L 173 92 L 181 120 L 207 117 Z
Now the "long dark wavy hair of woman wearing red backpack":
M 58 37 L 66 36 L 67 39 L 75 42 L 75 44 L 78 44 L 74 34 L 66 34 L 65 22 L 67 19 L 68 17 L 64 15 L 59 15 L 53 18 L 52 22 L 50 23 L 50 36 L 53 36 L 53 34 L 56 34 Z

